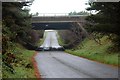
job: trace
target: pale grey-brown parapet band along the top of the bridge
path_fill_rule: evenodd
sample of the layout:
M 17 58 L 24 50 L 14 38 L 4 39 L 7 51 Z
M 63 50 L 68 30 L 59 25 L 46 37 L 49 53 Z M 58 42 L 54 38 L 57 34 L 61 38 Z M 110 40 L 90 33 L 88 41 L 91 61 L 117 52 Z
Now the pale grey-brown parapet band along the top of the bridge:
M 85 22 L 85 15 L 74 16 L 34 16 L 32 23 L 55 23 L 55 22 Z

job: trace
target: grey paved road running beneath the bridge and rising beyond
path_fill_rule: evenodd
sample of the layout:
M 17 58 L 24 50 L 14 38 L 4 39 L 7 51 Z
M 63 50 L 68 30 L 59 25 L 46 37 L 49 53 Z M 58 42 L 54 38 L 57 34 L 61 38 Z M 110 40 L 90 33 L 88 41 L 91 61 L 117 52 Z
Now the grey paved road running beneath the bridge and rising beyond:
M 42 46 L 59 46 L 55 31 L 48 31 Z M 118 68 L 63 51 L 41 51 L 35 56 L 42 78 L 117 78 Z

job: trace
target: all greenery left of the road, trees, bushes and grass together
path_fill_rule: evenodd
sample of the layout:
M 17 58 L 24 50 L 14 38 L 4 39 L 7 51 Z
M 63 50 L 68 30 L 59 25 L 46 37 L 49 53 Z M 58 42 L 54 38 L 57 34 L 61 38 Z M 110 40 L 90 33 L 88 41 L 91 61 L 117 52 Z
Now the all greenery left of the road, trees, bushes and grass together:
M 32 29 L 28 8 L 32 1 L 2 3 L 3 78 L 35 77 L 30 59 L 43 31 Z

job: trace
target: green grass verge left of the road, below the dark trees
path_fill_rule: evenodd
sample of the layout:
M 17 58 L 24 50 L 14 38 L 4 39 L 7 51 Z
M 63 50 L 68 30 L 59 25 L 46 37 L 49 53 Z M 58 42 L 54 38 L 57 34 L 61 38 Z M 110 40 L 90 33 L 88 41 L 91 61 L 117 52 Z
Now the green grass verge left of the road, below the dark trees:
M 14 73 L 3 68 L 3 78 L 36 78 L 31 58 L 35 51 L 26 50 L 20 45 L 13 51 L 16 56 L 16 62 L 13 63 Z

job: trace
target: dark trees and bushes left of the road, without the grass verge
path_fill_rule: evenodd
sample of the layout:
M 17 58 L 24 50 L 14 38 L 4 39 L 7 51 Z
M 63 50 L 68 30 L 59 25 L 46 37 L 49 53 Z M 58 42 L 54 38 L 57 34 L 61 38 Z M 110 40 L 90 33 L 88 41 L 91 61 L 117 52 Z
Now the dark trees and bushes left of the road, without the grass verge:
M 11 63 L 14 63 L 14 49 L 16 43 L 24 45 L 27 49 L 35 48 L 38 36 L 37 32 L 32 30 L 31 15 L 29 6 L 31 2 L 3 2 L 2 3 L 2 61 L 3 68 L 14 73 Z M 32 32 L 32 33 L 31 33 Z M 31 35 L 32 34 L 32 35 Z

